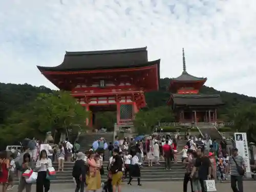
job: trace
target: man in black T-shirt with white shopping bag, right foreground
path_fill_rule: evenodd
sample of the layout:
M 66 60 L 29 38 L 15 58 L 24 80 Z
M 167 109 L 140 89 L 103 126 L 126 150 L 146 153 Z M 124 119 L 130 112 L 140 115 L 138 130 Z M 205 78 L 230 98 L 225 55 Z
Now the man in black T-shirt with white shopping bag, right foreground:
M 202 192 L 205 192 L 204 181 L 211 178 L 211 163 L 209 158 L 204 156 L 203 148 L 197 149 L 197 159 L 191 172 L 191 177 L 195 174 L 197 169 Z

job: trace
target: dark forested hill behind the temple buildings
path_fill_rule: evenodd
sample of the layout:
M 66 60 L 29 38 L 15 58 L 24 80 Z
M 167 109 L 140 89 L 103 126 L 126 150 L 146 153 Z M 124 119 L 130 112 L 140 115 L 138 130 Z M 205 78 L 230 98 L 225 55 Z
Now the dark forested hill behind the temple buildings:
M 146 102 L 149 108 L 166 105 L 169 93 L 166 91 L 170 79 L 160 79 L 160 88 L 157 92 L 147 93 Z M 11 84 L 0 83 L 0 123 L 15 110 L 19 110 L 33 101 L 38 93 L 51 93 L 51 89 L 44 86 L 34 87 L 30 84 Z M 237 93 L 228 93 L 217 91 L 214 88 L 204 86 L 200 93 L 202 94 L 220 94 L 225 105 L 222 106 L 222 113 L 226 113 L 240 103 L 256 103 L 255 97 L 248 97 Z

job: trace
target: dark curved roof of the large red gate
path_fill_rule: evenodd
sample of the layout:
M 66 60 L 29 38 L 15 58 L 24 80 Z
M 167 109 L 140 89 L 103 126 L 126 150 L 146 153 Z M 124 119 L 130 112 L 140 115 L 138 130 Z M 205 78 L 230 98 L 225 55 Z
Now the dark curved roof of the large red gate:
M 154 64 L 159 64 L 160 59 Z M 40 71 L 79 71 L 95 69 L 116 69 L 144 67 L 153 65 L 147 60 L 147 50 L 144 48 L 66 52 L 63 62 L 56 67 L 40 67 Z

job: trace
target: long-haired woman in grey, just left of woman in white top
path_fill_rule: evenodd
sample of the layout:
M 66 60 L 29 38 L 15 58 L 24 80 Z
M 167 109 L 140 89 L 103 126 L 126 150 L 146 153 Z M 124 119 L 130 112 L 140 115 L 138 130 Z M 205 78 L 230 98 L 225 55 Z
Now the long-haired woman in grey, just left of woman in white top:
M 24 173 L 27 169 L 32 169 L 31 156 L 29 153 L 23 155 L 23 163 L 20 171 Z M 27 183 L 24 177 L 20 177 L 18 184 L 18 192 L 22 192 L 26 188 L 26 192 L 31 191 L 32 183 Z

